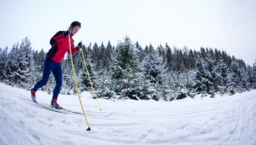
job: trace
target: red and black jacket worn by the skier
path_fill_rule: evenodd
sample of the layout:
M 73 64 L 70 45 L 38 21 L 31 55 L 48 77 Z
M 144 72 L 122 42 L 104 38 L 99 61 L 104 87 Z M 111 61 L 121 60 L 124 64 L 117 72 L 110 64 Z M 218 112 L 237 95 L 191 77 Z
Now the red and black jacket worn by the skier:
M 70 35 L 71 36 L 71 35 Z M 71 38 L 71 37 L 70 37 Z M 66 53 L 69 53 L 69 37 L 65 37 L 65 31 L 59 31 L 53 38 L 50 40 L 50 44 L 52 48 L 47 53 L 47 56 L 51 58 L 53 61 L 60 63 L 61 60 L 65 57 Z M 70 39 L 71 44 L 71 52 L 76 53 L 78 50 L 74 48 L 74 40 Z

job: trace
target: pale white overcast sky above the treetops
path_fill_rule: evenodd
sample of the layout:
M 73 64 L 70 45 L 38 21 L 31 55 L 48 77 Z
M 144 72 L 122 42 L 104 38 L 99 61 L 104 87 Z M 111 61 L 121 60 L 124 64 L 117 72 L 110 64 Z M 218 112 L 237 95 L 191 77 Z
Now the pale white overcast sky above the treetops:
M 0 48 L 28 37 L 48 52 L 51 37 L 77 20 L 75 44 L 116 45 L 129 36 L 143 48 L 167 42 L 218 48 L 250 65 L 256 59 L 255 0 L 0 0 L 0 19 Z

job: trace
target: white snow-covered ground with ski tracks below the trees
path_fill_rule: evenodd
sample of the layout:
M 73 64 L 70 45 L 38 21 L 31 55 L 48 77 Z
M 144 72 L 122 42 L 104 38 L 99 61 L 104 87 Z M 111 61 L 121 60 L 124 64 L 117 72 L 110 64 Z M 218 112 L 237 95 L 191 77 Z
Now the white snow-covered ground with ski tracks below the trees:
M 99 99 L 101 111 L 90 97 L 82 93 L 86 131 L 83 115 L 49 111 L 29 91 L 0 83 L 0 144 L 256 144 L 256 90 L 172 102 Z M 82 111 L 75 95 L 59 95 L 59 103 Z

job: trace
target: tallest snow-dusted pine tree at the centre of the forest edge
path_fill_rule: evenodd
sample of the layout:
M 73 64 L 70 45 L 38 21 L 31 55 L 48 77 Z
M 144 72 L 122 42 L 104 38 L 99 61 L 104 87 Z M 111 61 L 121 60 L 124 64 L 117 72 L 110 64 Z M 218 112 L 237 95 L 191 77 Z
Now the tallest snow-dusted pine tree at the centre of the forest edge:
M 117 44 L 117 53 L 113 58 L 112 76 L 115 81 L 114 90 L 121 97 L 137 98 L 138 91 L 134 91 L 135 85 L 130 85 L 128 82 L 135 81 L 138 73 L 138 50 L 131 42 L 130 38 L 126 37 L 124 42 Z M 136 83 L 137 81 L 135 81 Z

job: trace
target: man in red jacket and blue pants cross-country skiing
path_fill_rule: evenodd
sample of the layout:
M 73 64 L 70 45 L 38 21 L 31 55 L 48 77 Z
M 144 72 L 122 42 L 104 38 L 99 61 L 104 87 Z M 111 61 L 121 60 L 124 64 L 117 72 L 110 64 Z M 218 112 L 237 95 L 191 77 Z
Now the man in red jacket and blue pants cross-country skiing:
M 74 36 L 78 30 L 81 28 L 81 23 L 79 21 L 73 21 L 69 29 L 65 31 L 59 31 L 53 38 L 50 40 L 51 49 L 47 53 L 47 56 L 44 60 L 44 70 L 42 74 L 42 79 L 34 85 L 31 91 L 32 101 L 36 102 L 36 91 L 46 85 L 49 80 L 50 73 L 53 72 L 55 77 L 56 85 L 53 91 L 53 99 L 51 101 L 51 107 L 55 109 L 63 109 L 61 105 L 57 103 L 59 92 L 61 91 L 62 85 L 62 70 L 61 70 L 61 60 L 63 60 L 65 54 L 69 52 L 69 35 Z M 79 49 L 82 48 L 82 42 L 79 42 L 77 47 L 73 46 L 73 38 L 70 39 L 71 52 L 74 54 Z

